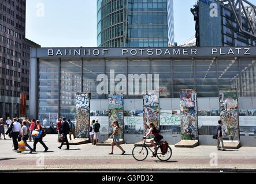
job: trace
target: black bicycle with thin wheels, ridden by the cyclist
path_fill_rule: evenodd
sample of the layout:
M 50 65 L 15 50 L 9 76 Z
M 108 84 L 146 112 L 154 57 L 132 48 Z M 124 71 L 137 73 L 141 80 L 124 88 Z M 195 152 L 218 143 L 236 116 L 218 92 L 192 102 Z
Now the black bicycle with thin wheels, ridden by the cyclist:
M 143 144 L 139 144 L 139 145 L 135 145 L 135 147 L 132 150 L 132 156 L 133 158 L 135 158 L 135 160 L 138 161 L 143 161 L 144 159 L 147 158 L 147 155 L 149 155 L 149 151 L 147 150 L 147 148 L 149 148 L 149 150 L 153 153 L 154 155 L 154 151 L 152 151 L 150 149 L 150 147 L 152 145 L 147 145 L 146 144 L 146 138 L 143 138 L 144 143 Z M 148 142 L 147 142 L 148 143 Z M 157 158 L 161 161 L 167 161 L 170 159 L 170 157 L 172 156 L 172 148 L 167 147 L 167 152 L 166 153 L 162 153 L 161 151 L 161 147 L 160 147 L 160 141 L 157 142 L 157 150 L 155 151 L 155 154 L 157 156 Z

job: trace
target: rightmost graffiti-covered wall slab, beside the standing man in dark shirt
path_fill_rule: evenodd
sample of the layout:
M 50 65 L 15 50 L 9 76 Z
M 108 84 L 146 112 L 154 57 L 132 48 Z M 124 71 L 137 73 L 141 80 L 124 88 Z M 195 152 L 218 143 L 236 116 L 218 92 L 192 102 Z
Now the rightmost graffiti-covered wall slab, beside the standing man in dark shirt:
M 238 93 L 236 89 L 220 90 L 220 119 L 222 134 L 228 140 L 240 140 Z

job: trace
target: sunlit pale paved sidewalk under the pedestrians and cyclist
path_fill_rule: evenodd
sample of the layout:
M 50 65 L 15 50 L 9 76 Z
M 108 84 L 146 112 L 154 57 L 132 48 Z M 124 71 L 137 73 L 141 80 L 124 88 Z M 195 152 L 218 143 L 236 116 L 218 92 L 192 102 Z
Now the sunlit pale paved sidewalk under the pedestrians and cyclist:
M 256 147 L 241 147 L 239 150 L 217 151 L 217 146 L 200 145 L 195 148 L 172 148 L 172 158 L 160 162 L 151 157 L 139 162 L 133 159 L 133 144 L 121 145 L 126 151 L 114 147 L 114 155 L 108 155 L 109 146 L 92 144 L 71 145 L 71 150 L 58 148 L 57 135 L 47 135 L 44 143 L 48 152 L 37 144 L 36 151 L 18 154 L 13 150 L 12 140 L 0 140 L 0 171 L 23 170 L 98 170 L 98 171 L 256 171 Z M 33 145 L 33 142 L 28 142 Z M 212 156 L 212 157 L 211 157 Z M 216 159 L 214 164 L 211 159 Z

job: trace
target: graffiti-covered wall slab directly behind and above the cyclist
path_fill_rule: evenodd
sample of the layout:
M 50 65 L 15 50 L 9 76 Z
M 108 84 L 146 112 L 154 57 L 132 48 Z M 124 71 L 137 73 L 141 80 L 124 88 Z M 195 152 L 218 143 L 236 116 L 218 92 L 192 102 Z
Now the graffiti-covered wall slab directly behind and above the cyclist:
M 143 133 L 149 128 L 148 125 L 153 122 L 155 127 L 160 128 L 159 124 L 159 91 L 147 93 L 143 97 Z

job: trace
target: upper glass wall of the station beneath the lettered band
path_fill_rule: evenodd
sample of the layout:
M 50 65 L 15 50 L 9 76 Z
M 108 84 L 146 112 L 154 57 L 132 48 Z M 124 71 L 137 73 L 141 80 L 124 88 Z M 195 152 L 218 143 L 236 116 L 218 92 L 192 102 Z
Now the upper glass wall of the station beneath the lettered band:
M 159 75 L 160 98 L 179 98 L 180 89 L 197 89 L 198 97 L 218 97 L 220 88 L 237 88 L 239 97 L 256 97 L 256 62 L 251 59 L 39 59 L 38 118 L 75 121 L 76 92 L 91 92 L 92 99 L 107 99 L 98 94 L 97 76 L 110 70 L 123 74 Z M 141 80 L 140 80 L 141 81 Z M 116 81 L 117 85 L 119 81 Z M 83 84 L 83 86 L 81 85 Z M 143 83 L 140 84 L 140 89 Z M 128 80 L 127 80 L 127 86 Z M 153 86 L 154 87 L 154 86 Z M 108 82 L 108 89 L 110 83 Z M 127 90 L 128 91 L 128 90 Z M 141 90 L 140 90 L 141 91 Z M 125 99 L 142 99 L 125 95 Z

